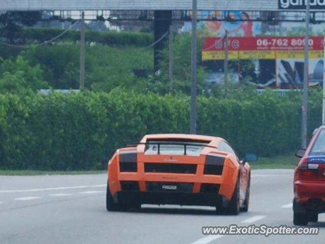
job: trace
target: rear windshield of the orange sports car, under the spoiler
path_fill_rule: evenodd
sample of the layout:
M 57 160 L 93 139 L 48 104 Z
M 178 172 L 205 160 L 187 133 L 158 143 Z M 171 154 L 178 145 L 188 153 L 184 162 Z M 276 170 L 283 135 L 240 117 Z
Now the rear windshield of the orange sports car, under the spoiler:
M 147 145 L 145 155 L 156 155 L 158 154 L 158 144 L 160 144 L 160 154 L 161 155 L 184 155 L 184 145 L 186 144 L 186 155 L 189 156 L 200 156 L 201 151 L 204 149 L 204 146 L 208 145 L 209 142 L 202 141 L 183 141 L 183 140 L 149 140 L 150 145 Z M 152 143 L 152 144 L 151 144 Z M 157 143 L 157 144 L 154 144 Z M 171 144 L 168 144 L 171 143 Z M 175 145 L 175 144 L 181 145 Z M 196 145 L 189 145 L 196 144 Z

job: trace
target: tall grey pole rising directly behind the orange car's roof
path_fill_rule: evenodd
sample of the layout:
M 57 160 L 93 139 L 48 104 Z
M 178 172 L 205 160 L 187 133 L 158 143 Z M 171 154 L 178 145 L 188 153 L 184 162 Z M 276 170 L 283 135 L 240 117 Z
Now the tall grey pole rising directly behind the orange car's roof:
M 191 112 L 190 133 L 197 134 L 197 9 L 198 1 L 192 0 L 192 82 L 191 82 Z

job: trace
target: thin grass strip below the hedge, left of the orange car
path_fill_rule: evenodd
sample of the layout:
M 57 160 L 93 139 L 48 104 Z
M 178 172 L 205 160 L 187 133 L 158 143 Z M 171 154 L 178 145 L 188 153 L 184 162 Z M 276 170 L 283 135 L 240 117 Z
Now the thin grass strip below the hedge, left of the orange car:
M 79 174 L 105 174 L 106 170 L 96 171 L 42 171 L 42 170 L 0 170 L 0 175 L 79 175 Z

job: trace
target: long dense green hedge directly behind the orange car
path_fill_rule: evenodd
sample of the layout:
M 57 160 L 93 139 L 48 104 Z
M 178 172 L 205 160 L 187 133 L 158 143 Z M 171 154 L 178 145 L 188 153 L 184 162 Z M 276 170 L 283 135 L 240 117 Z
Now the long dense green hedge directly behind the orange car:
M 321 93 L 311 96 L 309 133 L 320 125 Z M 0 169 L 104 169 L 113 151 L 147 133 L 187 133 L 189 98 L 113 90 L 0 95 Z M 198 131 L 261 156 L 300 145 L 301 95 L 198 99 Z

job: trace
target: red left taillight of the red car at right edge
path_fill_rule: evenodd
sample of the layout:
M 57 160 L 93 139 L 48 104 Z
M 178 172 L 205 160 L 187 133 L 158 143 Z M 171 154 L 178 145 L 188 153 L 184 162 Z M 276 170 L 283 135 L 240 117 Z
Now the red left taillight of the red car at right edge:
M 304 158 L 297 166 L 295 180 L 317 180 L 318 164 L 309 164 Z

